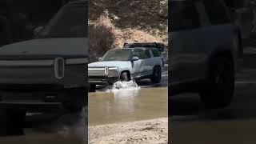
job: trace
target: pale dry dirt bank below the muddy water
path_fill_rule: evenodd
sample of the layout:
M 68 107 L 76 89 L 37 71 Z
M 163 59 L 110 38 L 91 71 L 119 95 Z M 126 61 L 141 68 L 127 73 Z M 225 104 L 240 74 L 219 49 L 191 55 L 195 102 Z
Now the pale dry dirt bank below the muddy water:
M 89 127 L 90 143 L 168 143 L 168 118 Z

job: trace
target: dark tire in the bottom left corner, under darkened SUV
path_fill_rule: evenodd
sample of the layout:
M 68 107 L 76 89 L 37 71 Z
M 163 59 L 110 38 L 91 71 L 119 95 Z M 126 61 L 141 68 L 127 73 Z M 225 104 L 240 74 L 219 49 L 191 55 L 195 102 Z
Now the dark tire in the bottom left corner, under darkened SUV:
M 22 110 L 0 110 L 0 136 L 24 135 L 26 112 Z

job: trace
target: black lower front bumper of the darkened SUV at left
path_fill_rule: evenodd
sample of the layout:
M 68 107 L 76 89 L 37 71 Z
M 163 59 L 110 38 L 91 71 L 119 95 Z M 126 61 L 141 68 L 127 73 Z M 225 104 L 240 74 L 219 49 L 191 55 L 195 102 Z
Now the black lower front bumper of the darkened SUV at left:
M 8 89 L 0 90 L 1 109 L 17 109 L 27 112 L 56 112 L 72 103 L 86 106 L 86 99 L 84 87 L 67 89 L 52 85 L 13 85 Z

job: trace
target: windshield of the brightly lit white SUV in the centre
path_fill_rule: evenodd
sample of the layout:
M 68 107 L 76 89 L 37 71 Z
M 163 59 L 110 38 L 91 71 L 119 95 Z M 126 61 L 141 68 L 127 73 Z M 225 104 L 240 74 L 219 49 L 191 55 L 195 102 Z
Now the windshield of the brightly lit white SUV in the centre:
M 131 50 L 109 50 L 102 61 L 129 61 Z

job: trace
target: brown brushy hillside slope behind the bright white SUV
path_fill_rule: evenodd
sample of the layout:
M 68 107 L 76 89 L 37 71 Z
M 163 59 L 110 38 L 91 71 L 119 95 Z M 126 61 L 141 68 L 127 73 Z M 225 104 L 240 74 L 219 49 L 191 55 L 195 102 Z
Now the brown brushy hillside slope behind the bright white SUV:
M 92 61 L 124 42 L 167 44 L 167 0 L 91 0 L 89 7 Z

